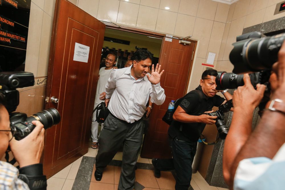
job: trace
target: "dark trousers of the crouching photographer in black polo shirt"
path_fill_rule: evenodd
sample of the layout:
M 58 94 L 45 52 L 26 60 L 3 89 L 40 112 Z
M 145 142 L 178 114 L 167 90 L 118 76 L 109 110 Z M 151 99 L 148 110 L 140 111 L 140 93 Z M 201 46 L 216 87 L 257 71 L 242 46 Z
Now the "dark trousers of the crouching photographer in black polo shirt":
M 175 169 L 177 180 L 176 190 L 187 190 L 192 177 L 192 162 L 196 154 L 197 142 L 187 142 L 173 138 L 171 141 L 171 159 L 158 159 L 156 168 L 160 171 Z

